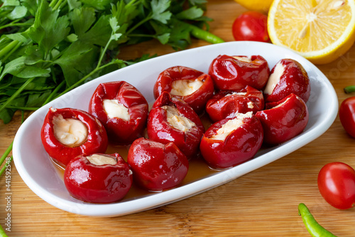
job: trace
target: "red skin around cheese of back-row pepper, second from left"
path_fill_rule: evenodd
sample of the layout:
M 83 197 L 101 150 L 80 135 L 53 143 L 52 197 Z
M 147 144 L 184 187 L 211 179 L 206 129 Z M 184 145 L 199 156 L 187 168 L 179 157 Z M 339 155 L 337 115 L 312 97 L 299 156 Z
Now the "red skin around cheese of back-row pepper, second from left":
M 129 110 L 130 120 L 110 118 L 104 110 L 104 100 L 118 100 Z M 102 83 L 94 91 L 89 102 L 89 113 L 97 117 L 107 130 L 109 140 L 115 144 L 130 144 L 143 136 L 148 118 L 146 98 L 125 81 Z

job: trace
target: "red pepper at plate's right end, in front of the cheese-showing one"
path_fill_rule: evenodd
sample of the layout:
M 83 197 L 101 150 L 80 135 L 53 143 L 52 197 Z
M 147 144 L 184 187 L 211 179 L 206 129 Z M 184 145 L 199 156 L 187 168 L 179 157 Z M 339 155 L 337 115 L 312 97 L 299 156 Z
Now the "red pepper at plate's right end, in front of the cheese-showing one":
M 266 103 L 266 110 L 256 112 L 264 130 L 264 142 L 280 144 L 299 135 L 308 122 L 305 102 L 290 94 L 278 102 Z

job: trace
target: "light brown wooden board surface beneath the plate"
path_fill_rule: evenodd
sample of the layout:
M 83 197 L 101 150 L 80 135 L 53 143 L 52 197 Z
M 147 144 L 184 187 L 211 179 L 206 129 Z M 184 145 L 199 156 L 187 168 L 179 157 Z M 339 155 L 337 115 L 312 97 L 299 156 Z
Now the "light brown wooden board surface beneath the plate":
M 231 24 L 246 11 L 232 0 L 209 1 L 212 33 L 233 41 Z M 195 40 L 192 47 L 207 43 Z M 151 41 L 126 48 L 121 58 L 173 50 Z M 261 52 L 262 55 L 262 52 Z M 355 46 L 333 63 L 318 66 L 334 86 L 339 103 L 355 84 Z M 20 115 L 0 125 L 4 153 L 19 127 Z M 305 203 L 317 221 L 337 236 L 354 236 L 355 209 L 329 206 L 317 189 L 324 164 L 345 162 L 355 167 L 355 139 L 344 132 L 339 117 L 321 137 L 278 161 L 203 194 L 150 211 L 115 218 L 78 216 L 57 209 L 36 196 L 11 166 L 11 211 L 6 211 L 5 176 L 1 181 L 0 224 L 11 214 L 9 236 L 309 236 L 297 205 Z

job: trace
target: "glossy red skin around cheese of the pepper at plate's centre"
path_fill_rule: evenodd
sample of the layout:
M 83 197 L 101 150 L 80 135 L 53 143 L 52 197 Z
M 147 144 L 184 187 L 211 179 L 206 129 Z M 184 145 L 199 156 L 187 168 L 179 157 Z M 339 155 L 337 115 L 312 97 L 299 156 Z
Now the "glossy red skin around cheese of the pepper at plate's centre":
M 168 122 L 167 112 L 162 107 L 170 105 L 175 107 L 183 117 L 187 117 L 196 126 L 190 130 L 178 130 Z M 147 132 L 149 139 L 163 144 L 174 142 L 182 153 L 191 158 L 198 152 L 201 138 L 204 133 L 204 127 L 197 113 L 187 105 L 186 102 L 163 92 L 155 100 L 148 117 Z

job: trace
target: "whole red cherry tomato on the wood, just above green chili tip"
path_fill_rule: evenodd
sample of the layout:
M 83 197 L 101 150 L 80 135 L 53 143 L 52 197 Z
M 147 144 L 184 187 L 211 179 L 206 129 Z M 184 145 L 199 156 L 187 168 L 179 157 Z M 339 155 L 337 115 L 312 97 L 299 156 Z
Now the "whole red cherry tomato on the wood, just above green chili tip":
M 337 209 L 355 206 L 355 170 L 342 162 L 324 165 L 318 174 L 318 189 L 325 201 Z

